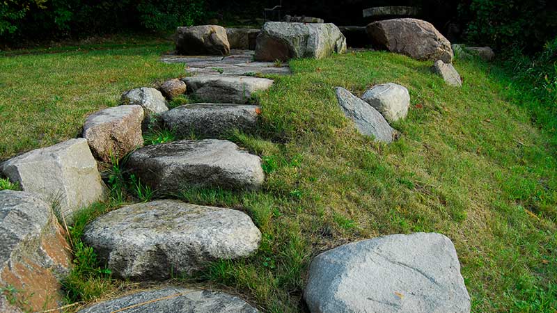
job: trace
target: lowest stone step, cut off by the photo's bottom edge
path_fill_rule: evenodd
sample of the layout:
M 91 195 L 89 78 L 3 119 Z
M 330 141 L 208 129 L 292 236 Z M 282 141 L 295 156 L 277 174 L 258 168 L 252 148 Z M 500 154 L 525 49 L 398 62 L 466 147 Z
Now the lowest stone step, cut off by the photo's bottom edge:
M 78 311 L 78 313 L 258 313 L 244 300 L 219 291 L 164 287 L 141 291 Z

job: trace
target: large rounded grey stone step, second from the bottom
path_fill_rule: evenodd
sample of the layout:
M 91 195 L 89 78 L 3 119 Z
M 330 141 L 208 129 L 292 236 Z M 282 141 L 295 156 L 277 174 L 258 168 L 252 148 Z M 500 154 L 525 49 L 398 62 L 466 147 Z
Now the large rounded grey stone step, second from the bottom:
M 87 225 L 84 242 L 114 275 L 165 280 L 191 274 L 217 259 L 246 257 L 261 233 L 241 211 L 176 200 L 132 204 Z

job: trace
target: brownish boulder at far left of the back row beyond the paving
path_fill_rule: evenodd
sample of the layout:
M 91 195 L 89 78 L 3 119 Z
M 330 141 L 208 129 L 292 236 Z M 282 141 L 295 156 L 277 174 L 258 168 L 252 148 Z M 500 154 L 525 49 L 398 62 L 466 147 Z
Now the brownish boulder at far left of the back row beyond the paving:
M 179 54 L 226 56 L 230 53 L 226 29 L 218 25 L 178 27 L 174 34 L 174 43 Z

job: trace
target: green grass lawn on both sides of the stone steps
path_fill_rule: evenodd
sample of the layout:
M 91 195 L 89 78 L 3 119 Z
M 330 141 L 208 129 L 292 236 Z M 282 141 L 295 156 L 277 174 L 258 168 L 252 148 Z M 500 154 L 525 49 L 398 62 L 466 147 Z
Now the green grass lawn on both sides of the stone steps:
M 77 136 L 86 115 L 116 105 L 123 91 L 184 74 L 184 65 L 157 61 L 171 49 L 126 42 L 0 56 L 0 159 Z M 292 76 L 273 77 L 259 95 L 258 133 L 229 138 L 264 159 L 265 188 L 180 195 L 246 211 L 263 234 L 260 249 L 174 283 L 240 294 L 265 312 L 304 312 L 306 270 L 319 252 L 385 234 L 441 232 L 455 243 L 473 312 L 556 311 L 557 150 L 527 110 L 542 104 L 481 61 L 455 63 L 462 88 L 446 86 L 431 63 L 386 52 L 290 65 Z M 333 90 L 361 95 L 386 82 L 411 96 L 391 145 L 360 136 Z M 74 245 L 88 220 L 122 200 L 84 210 Z M 78 264 L 94 261 L 86 247 L 76 249 L 88 253 Z M 65 283 L 68 301 L 138 287 L 89 265 Z

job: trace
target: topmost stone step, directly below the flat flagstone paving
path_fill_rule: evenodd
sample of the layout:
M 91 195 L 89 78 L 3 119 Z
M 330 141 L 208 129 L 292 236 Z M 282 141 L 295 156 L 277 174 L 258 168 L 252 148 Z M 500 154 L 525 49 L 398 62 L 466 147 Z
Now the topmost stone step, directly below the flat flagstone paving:
M 271 79 L 249 76 L 203 75 L 182 79 L 189 92 L 205 102 L 245 104 L 258 90 L 272 86 Z

